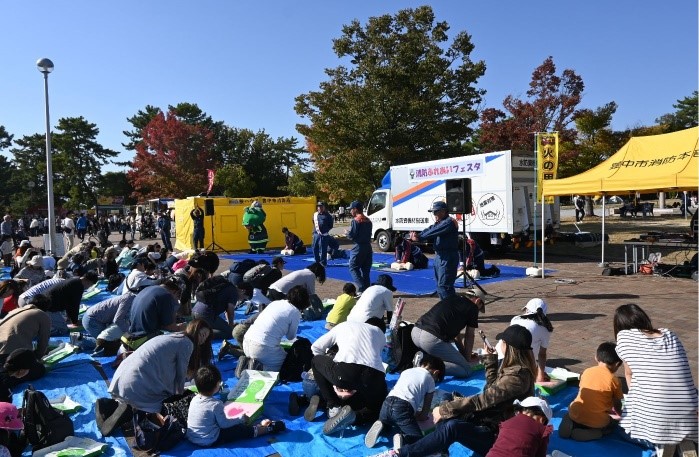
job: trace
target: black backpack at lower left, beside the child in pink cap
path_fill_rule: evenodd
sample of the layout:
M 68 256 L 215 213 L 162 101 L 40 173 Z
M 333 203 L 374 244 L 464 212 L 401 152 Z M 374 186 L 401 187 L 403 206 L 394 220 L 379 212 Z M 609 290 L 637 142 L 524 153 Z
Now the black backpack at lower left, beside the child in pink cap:
M 36 452 L 47 446 L 60 443 L 73 435 L 73 421 L 63 411 L 49 403 L 43 392 L 30 385 L 22 400 L 22 422 L 24 434 Z

